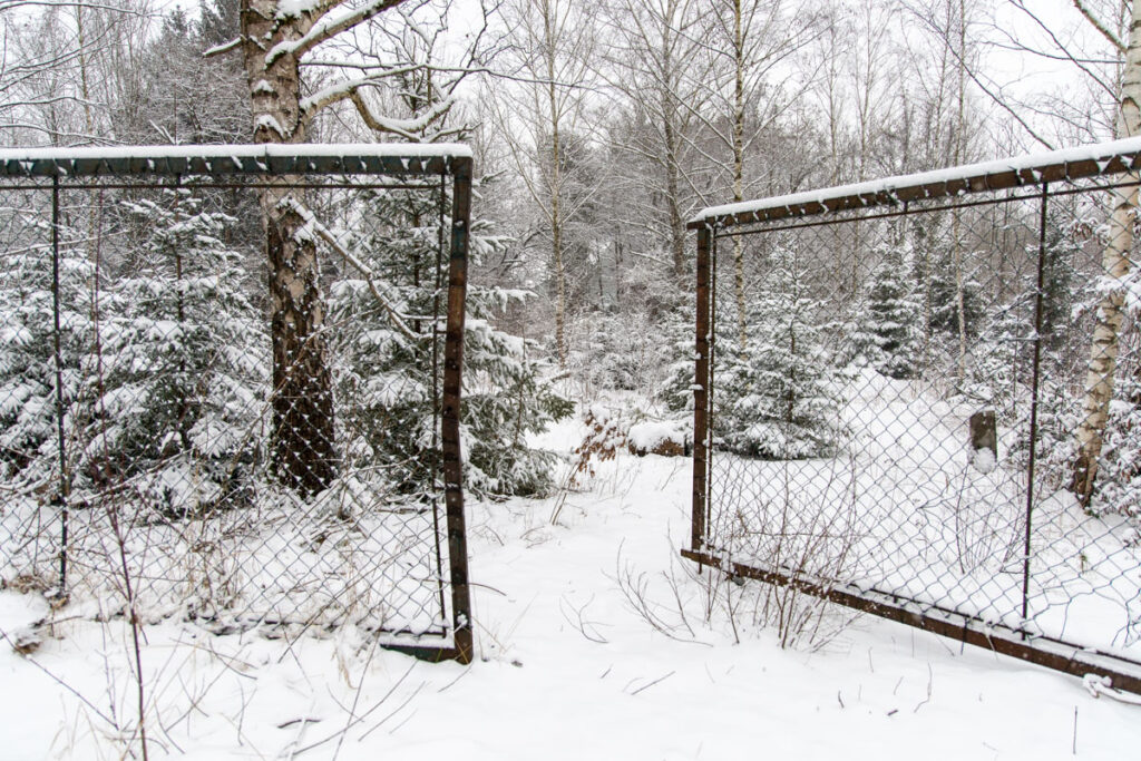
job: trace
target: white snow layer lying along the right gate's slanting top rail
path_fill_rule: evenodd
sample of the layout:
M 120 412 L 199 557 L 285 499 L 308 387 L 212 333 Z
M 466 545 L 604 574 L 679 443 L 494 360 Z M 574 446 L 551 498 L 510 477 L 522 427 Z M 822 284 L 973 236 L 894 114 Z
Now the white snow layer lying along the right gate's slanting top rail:
M 997 159 L 974 164 L 936 169 L 915 175 L 899 175 L 897 177 L 885 177 L 864 183 L 837 185 L 835 187 L 804 191 L 801 193 L 791 193 L 788 195 L 778 195 L 753 201 L 742 201 L 741 203 L 706 207 L 705 209 L 698 211 L 689 221 L 701 222 L 713 217 L 727 217 L 731 214 L 768 211 L 772 209 L 787 209 L 809 203 L 824 203 L 825 201 L 842 199 L 849 195 L 874 196 L 880 193 L 891 193 L 900 187 L 949 183 L 952 180 L 961 180 L 980 175 L 1022 171 L 1044 164 L 1061 164 L 1075 161 L 1089 161 L 1091 159 L 1099 162 L 1109 161 L 1115 155 L 1136 152 L 1141 152 L 1141 137 L 1130 137 L 1122 140 L 1082 145 L 1073 148 L 1062 148 L 1060 151 L 1027 153 L 1009 159 Z

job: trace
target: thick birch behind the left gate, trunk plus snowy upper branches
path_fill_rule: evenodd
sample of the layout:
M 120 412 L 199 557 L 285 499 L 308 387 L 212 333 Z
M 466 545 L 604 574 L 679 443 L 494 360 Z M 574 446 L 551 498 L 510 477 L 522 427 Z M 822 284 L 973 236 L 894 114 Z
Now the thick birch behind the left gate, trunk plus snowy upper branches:
M 241 0 L 241 35 L 208 52 L 241 50 L 250 89 L 256 143 L 297 144 L 307 139 L 315 116 L 348 102 L 373 129 L 398 128 L 375 114 L 363 92 L 393 71 L 348 68 L 332 83 L 306 95 L 302 65 L 343 35 L 402 5 L 404 0 Z M 442 110 L 451 107 L 446 100 Z M 426 114 L 426 120 L 440 113 Z M 265 252 L 269 269 L 273 343 L 272 460 L 278 478 L 304 494 L 323 489 L 337 473 L 332 377 L 323 335 L 316 242 L 301 235 L 304 199 L 291 179 L 277 178 L 261 193 Z

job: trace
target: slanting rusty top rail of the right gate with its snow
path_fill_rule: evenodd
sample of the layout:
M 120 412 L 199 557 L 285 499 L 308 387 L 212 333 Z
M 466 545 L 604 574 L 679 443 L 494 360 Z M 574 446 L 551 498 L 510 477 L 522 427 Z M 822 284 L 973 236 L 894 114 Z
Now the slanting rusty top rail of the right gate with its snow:
M 707 207 L 698 211 L 687 227 L 697 229 L 706 225 L 714 227 L 751 225 L 831 211 L 896 205 L 908 201 L 1116 175 L 1139 168 L 1141 168 L 1141 137 L 1131 137 L 916 175 L 885 177 L 865 183 Z

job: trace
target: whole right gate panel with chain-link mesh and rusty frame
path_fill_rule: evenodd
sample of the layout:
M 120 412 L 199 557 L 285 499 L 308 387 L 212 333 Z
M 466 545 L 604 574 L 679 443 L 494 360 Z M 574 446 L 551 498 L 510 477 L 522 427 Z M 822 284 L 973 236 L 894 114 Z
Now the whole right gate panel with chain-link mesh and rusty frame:
M 686 554 L 1141 690 L 1139 151 L 704 212 Z

